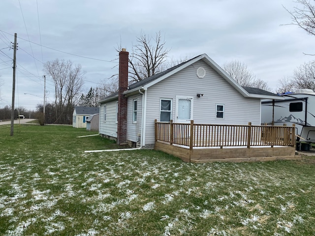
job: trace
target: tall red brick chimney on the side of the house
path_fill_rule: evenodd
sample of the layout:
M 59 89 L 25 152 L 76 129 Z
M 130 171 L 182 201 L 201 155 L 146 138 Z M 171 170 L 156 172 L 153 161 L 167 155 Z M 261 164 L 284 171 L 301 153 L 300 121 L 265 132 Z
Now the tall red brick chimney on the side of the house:
M 128 55 L 126 48 L 119 52 L 119 82 L 118 82 L 118 124 L 117 143 L 119 145 L 127 142 L 127 98 L 123 92 L 128 89 Z

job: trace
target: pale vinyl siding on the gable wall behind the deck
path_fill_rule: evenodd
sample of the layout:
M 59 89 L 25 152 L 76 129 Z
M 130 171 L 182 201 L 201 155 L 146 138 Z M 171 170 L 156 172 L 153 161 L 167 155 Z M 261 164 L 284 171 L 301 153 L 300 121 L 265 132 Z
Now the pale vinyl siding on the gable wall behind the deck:
M 196 68 L 205 68 L 206 76 L 199 79 Z M 180 85 L 180 86 L 179 86 Z M 197 97 L 198 93 L 203 96 Z M 188 66 L 147 90 L 146 145 L 155 143 L 154 120 L 159 119 L 160 99 L 173 99 L 172 118 L 175 119 L 176 96 L 193 97 L 195 123 L 260 124 L 260 99 L 245 98 L 203 61 Z M 224 119 L 216 119 L 216 104 L 224 104 Z

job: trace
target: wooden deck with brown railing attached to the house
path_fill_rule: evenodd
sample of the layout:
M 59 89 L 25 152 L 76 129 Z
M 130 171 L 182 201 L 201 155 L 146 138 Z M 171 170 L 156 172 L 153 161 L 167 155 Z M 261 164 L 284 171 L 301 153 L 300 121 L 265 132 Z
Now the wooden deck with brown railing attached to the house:
M 287 126 L 178 124 L 156 121 L 155 149 L 185 162 L 299 159 Z

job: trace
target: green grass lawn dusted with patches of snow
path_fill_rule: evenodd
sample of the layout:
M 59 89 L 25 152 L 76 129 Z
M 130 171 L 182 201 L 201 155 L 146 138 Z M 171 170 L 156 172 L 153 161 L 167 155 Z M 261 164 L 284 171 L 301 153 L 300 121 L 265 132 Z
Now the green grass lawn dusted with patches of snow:
M 189 164 L 84 129 L 0 125 L 0 235 L 315 235 L 315 159 Z

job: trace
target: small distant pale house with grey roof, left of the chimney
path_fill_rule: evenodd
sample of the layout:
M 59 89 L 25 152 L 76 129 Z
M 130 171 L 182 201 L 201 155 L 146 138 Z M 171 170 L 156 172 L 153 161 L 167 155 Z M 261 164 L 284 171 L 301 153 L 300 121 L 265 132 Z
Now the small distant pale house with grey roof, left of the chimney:
M 86 128 L 87 118 L 99 114 L 99 107 L 75 107 L 72 115 L 72 126 L 74 128 Z

